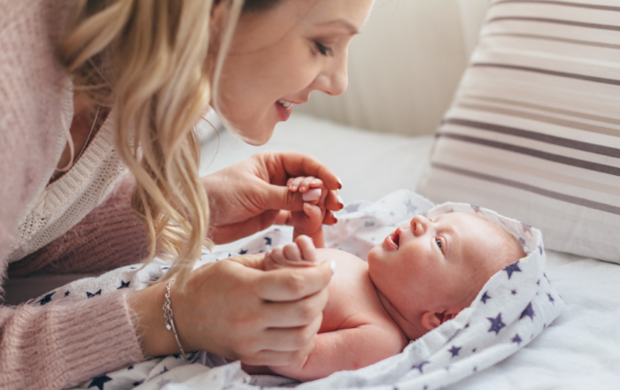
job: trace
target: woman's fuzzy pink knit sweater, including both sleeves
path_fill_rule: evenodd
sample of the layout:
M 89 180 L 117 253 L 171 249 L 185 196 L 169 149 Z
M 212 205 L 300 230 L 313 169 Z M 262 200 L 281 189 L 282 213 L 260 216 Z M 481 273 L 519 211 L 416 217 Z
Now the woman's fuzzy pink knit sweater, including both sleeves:
M 53 48 L 74 0 L 0 0 L 0 272 L 20 218 L 55 166 L 66 73 Z M 104 204 L 10 275 L 103 271 L 136 263 L 142 227 L 126 181 Z M 0 387 L 61 388 L 143 360 L 126 294 L 84 302 L 0 308 Z

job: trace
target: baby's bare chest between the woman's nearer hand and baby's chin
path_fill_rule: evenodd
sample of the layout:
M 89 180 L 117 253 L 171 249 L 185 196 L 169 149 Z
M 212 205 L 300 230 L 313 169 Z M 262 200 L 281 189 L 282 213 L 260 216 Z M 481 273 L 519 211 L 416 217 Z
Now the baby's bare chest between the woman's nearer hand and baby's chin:
M 391 322 L 368 276 L 366 262 L 336 249 L 319 249 L 319 261 L 323 259 L 335 260 L 337 268 L 329 282 L 329 301 L 319 333 Z

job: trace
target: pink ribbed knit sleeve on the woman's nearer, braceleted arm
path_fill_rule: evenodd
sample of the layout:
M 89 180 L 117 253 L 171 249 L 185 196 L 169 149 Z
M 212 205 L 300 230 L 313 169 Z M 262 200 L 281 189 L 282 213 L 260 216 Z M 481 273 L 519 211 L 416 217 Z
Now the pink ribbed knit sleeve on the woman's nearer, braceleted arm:
M 1 387 L 64 388 L 142 361 L 126 296 L 0 309 Z

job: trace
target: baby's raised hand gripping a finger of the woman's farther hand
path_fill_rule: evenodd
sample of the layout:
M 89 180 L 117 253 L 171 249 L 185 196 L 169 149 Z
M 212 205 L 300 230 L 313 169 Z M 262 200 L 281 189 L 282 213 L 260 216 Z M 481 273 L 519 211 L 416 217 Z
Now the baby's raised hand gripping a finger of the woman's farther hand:
M 302 193 L 305 202 L 303 210 L 291 212 L 291 224 L 295 228 L 296 236 L 306 234 L 314 239 L 314 235 L 322 231 L 327 188 L 322 180 L 303 176 L 289 179 L 287 187 L 291 192 Z

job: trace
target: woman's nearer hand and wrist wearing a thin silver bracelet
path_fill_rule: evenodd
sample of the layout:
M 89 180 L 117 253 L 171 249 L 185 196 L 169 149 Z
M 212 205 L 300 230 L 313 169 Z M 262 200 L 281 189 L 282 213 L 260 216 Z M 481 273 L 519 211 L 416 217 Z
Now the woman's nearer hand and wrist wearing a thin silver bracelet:
M 300 362 L 316 344 L 333 271 L 313 267 L 263 271 L 264 256 L 205 264 L 171 288 L 174 325 L 185 351 L 206 350 L 252 365 Z M 166 329 L 161 283 L 128 297 L 147 356 L 179 352 Z

